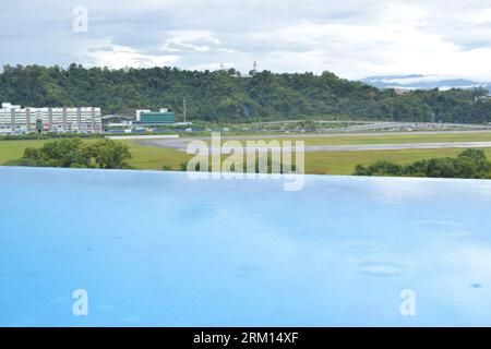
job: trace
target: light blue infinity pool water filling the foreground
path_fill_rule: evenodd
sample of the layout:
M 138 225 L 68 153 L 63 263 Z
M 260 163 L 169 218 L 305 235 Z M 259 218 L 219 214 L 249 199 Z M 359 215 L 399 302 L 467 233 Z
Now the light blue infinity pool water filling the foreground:
M 0 168 L 0 183 L 2 326 L 491 325 L 491 181 L 307 176 L 285 192 Z

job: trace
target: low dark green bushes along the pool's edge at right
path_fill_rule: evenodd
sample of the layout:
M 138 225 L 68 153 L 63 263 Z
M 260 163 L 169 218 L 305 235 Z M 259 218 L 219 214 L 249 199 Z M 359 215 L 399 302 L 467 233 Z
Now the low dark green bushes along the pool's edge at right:
M 397 165 L 386 160 L 370 166 L 358 165 L 354 174 L 491 179 L 491 163 L 484 152 L 467 149 L 457 157 L 432 158 L 409 165 Z

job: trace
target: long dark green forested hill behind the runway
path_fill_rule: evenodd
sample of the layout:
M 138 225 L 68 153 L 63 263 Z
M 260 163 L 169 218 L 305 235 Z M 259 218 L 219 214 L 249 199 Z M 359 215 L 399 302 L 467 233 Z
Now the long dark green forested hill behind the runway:
M 417 91 L 404 95 L 321 75 L 274 74 L 252 77 L 230 71 L 172 68 L 109 70 L 38 65 L 3 68 L 0 101 L 22 106 L 98 106 L 104 113 L 133 115 L 135 108 L 169 108 L 192 120 L 248 121 L 339 116 L 395 121 L 491 122 L 484 89 Z

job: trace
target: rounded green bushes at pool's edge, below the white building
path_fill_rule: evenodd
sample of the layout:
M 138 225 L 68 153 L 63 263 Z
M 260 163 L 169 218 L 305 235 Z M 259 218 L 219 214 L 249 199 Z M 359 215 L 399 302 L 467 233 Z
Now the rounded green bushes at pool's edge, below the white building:
M 24 156 L 8 161 L 7 166 L 130 168 L 128 145 L 111 140 L 84 143 L 81 139 L 65 139 L 46 143 L 41 148 L 26 148 Z

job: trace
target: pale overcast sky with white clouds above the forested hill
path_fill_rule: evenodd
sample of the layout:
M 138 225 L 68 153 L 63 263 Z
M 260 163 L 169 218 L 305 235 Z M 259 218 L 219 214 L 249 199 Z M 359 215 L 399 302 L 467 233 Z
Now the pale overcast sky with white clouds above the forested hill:
M 87 10 L 86 32 L 77 5 Z M 2 1 L 1 65 L 223 63 L 248 72 L 253 61 L 260 70 L 347 79 L 491 81 L 491 0 Z

